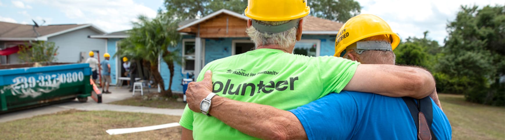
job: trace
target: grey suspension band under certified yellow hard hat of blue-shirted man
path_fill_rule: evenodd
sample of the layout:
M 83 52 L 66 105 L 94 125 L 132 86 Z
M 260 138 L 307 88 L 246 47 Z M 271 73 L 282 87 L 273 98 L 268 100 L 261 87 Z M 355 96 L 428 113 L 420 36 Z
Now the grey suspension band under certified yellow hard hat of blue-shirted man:
M 358 41 L 349 45 L 346 50 L 354 50 L 358 54 L 369 50 L 393 51 L 388 41 Z

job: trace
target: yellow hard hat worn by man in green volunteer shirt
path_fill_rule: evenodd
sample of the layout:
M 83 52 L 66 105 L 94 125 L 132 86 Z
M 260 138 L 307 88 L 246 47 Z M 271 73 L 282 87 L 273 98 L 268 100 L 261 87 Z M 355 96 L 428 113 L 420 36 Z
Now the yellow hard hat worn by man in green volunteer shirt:
M 285 21 L 309 15 L 306 0 L 249 0 L 245 16 L 261 21 Z

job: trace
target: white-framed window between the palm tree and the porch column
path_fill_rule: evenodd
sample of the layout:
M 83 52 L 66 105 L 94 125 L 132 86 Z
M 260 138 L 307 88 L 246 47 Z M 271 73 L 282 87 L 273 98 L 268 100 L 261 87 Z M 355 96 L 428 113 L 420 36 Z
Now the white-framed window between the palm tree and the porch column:
M 183 74 L 194 72 L 194 50 L 195 50 L 195 41 L 193 40 L 185 40 L 182 42 L 182 58 L 184 61 L 184 67 L 182 68 Z

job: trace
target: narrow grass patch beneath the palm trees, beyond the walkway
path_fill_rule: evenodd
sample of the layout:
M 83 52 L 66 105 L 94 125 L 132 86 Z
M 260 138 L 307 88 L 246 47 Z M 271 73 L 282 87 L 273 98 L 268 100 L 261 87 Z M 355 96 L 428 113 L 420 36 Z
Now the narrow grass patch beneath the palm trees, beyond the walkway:
M 177 102 L 176 99 L 168 98 L 165 100 L 142 100 L 142 97 L 136 96 L 129 99 L 116 101 L 108 104 L 126 105 L 126 106 L 141 106 L 151 108 L 168 108 L 168 109 L 184 109 L 186 103 Z

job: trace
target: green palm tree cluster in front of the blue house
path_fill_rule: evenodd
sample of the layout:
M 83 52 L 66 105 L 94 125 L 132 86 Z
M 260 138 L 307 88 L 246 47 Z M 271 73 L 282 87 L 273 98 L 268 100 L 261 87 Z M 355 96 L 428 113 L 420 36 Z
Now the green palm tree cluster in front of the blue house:
M 174 77 L 174 64 L 181 64 L 180 51 L 175 49 L 177 42 L 181 39 L 177 32 L 177 20 L 171 16 L 158 12 L 154 19 L 139 16 L 138 22 L 133 23 L 133 29 L 128 31 L 128 38 L 121 41 L 121 50 L 116 55 L 129 56 L 136 60 L 145 60 L 155 82 L 159 83 L 162 95 L 172 96 L 172 79 Z M 170 80 L 168 90 L 165 90 L 163 78 L 158 71 L 159 57 L 167 63 L 170 70 Z

